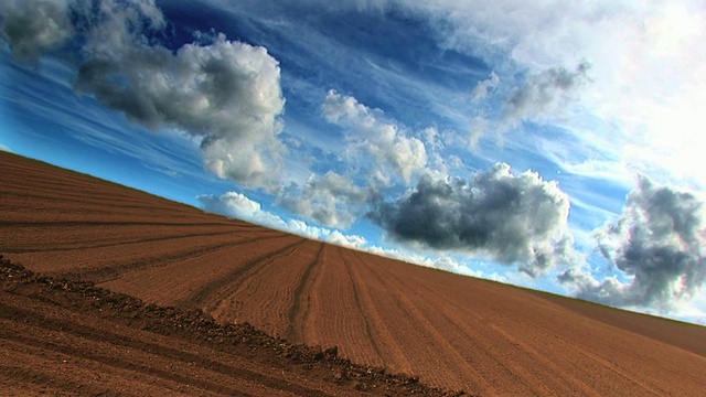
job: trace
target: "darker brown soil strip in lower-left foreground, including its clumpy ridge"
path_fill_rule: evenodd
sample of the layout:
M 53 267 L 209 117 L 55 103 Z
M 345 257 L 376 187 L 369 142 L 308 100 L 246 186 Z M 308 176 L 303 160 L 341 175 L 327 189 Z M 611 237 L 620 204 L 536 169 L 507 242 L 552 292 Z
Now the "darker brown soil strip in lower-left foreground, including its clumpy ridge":
M 2 257 L 0 290 L 3 396 L 456 394 L 351 364 L 335 347 L 295 345 L 248 323 L 146 304 Z

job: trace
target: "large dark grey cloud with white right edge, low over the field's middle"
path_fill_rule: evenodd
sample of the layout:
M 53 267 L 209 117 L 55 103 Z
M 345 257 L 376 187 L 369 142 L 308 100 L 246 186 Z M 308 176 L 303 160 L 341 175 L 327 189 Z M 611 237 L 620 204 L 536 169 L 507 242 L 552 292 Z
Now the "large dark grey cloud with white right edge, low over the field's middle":
M 394 239 L 437 250 L 482 253 L 531 276 L 573 255 L 568 196 L 555 182 L 498 163 L 472 181 L 421 178 L 368 214 Z

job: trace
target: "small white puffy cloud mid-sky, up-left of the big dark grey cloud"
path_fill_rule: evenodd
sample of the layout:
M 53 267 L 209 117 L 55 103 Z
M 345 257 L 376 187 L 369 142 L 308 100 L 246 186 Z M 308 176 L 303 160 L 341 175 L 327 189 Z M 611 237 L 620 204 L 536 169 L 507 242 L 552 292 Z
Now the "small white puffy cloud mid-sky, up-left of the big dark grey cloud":
M 378 182 L 389 184 L 389 176 L 383 170 L 392 169 L 408 184 L 413 175 L 427 164 L 424 142 L 407 137 L 397 125 L 385 120 L 381 110 L 371 109 L 354 97 L 335 90 L 329 90 L 322 110 L 329 122 L 351 129 L 346 137 L 350 151 L 364 152 L 377 161 Z

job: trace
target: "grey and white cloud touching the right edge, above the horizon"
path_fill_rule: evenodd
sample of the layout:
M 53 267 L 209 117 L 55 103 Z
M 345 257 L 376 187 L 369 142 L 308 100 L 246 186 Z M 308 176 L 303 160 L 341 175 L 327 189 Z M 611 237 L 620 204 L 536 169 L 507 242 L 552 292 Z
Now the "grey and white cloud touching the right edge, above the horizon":
M 706 214 L 692 193 L 641 178 L 620 217 L 597 237 L 600 253 L 631 281 L 598 281 L 586 270 L 567 270 L 559 281 L 580 298 L 666 310 L 696 296 L 706 281 Z

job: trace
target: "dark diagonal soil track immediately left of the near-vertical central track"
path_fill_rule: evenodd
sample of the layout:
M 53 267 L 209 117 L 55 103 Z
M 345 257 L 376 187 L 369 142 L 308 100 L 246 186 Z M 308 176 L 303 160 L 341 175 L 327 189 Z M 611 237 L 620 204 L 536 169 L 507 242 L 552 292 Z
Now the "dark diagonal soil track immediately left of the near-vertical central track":
M 285 237 L 291 238 L 292 236 L 286 235 Z M 237 281 L 237 280 L 244 275 L 246 275 L 247 272 L 249 272 L 250 270 L 253 270 L 256 266 L 260 265 L 266 260 L 276 259 L 279 256 L 284 256 L 286 255 L 285 253 L 287 253 L 287 250 L 291 249 L 292 247 L 299 246 L 306 242 L 307 239 L 302 237 L 299 240 L 292 244 L 289 244 L 282 248 L 279 248 L 275 251 L 270 251 L 268 254 L 259 256 L 246 262 L 245 265 L 236 268 L 235 270 L 205 283 L 203 287 L 201 287 L 199 290 L 192 293 L 191 297 L 184 299 L 183 301 L 180 301 L 178 305 L 185 304 L 185 305 L 203 307 L 204 303 L 206 303 L 206 300 L 208 299 L 210 296 L 213 296 L 216 292 L 223 290 L 224 288 L 228 287 L 228 285 L 235 283 L 236 286 L 239 287 L 239 283 L 242 283 L 242 281 Z M 217 298 L 213 304 L 208 305 L 208 309 L 206 310 L 207 312 L 211 312 L 213 309 L 217 308 L 218 304 L 223 302 L 223 300 L 227 299 L 227 296 L 223 293 L 218 293 L 217 297 L 221 297 L 221 298 Z

